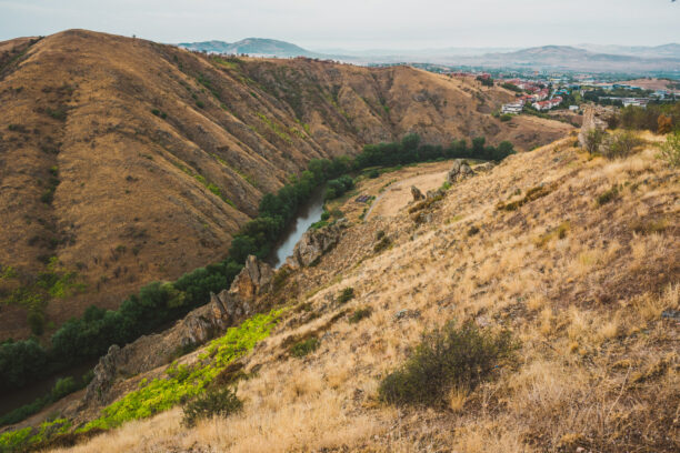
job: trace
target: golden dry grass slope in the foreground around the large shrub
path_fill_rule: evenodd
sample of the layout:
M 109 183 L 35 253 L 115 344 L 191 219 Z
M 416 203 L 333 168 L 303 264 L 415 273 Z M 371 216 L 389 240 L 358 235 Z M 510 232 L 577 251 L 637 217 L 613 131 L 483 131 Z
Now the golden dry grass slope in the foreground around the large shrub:
M 680 325 L 662 312 L 680 309 L 678 172 L 652 144 L 609 161 L 573 142 L 454 184 L 429 221 L 352 220 L 287 280 L 292 309 L 244 361 L 242 412 L 186 429 L 173 409 L 60 451 L 677 452 Z M 376 252 L 379 230 L 391 245 Z M 356 296 L 341 305 L 343 288 Z M 509 329 L 517 362 L 437 410 L 379 401 L 381 379 L 450 320 Z M 311 333 L 316 351 L 288 354 Z

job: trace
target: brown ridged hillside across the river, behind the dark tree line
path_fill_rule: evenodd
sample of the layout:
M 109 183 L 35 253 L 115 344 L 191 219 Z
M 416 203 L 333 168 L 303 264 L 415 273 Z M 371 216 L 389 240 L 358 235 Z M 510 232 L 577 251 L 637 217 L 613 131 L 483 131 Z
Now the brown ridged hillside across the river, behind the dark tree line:
M 83 30 L 2 46 L 20 50 L 0 67 L 0 291 L 70 276 L 2 306 L 0 339 L 29 333 L 28 306 L 59 325 L 223 258 L 310 159 L 407 132 L 526 150 L 570 129 L 500 123 L 488 113 L 511 93 L 407 67 L 224 60 Z

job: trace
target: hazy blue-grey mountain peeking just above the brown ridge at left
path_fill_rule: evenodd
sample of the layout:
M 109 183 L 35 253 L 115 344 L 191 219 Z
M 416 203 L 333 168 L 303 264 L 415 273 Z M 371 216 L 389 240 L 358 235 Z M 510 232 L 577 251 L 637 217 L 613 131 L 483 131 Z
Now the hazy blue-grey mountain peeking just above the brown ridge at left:
M 291 58 L 291 57 L 309 57 L 320 58 L 326 57 L 321 53 L 312 52 L 307 49 L 302 49 L 299 46 L 292 44 L 286 41 L 279 41 L 276 39 L 264 38 L 246 38 L 237 42 L 224 42 L 224 41 L 203 41 L 203 42 L 182 42 L 178 44 L 181 48 L 189 50 L 198 50 L 204 52 L 217 52 L 217 53 L 246 53 L 249 56 L 263 56 L 263 57 L 279 57 L 279 58 Z

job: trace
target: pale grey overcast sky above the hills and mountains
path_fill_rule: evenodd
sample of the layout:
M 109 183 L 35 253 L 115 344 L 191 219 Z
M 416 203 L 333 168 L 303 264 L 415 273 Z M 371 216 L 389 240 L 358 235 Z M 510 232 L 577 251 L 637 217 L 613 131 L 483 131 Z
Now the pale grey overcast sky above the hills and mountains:
M 352 50 L 680 42 L 671 0 L 0 0 L 0 40 L 84 28 L 160 42 Z

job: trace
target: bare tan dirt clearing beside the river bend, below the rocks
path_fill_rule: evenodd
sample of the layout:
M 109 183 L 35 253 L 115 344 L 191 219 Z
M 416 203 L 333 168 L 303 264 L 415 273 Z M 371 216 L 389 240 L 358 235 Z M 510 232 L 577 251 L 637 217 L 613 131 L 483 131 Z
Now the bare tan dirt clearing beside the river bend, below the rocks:
M 433 172 L 417 174 L 389 185 L 371 204 L 366 214 L 368 220 L 371 215 L 392 217 L 404 208 L 413 198 L 411 185 L 416 185 L 424 194 L 428 190 L 438 189 L 447 179 L 448 170 L 432 169 Z

